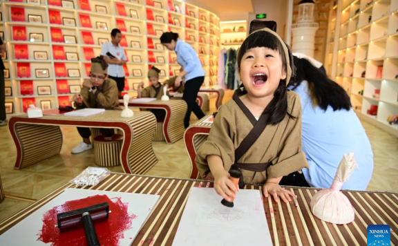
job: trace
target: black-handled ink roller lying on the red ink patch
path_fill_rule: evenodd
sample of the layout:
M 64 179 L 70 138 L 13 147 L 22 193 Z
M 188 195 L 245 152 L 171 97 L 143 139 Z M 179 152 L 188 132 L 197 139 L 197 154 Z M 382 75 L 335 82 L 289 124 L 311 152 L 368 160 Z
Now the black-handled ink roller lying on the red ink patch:
M 110 212 L 108 202 L 104 202 L 91 207 L 60 213 L 57 214 L 58 224 L 55 227 L 58 227 L 61 232 L 84 227 L 88 246 L 99 246 L 94 223 L 107 220 Z

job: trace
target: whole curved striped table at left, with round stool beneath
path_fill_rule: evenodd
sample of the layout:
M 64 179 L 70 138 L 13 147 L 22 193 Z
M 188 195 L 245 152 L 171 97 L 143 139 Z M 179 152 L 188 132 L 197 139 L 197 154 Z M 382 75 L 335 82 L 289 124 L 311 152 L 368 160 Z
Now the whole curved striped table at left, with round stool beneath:
M 45 115 L 28 118 L 12 116 L 8 121 L 12 140 L 17 147 L 15 169 L 57 155 L 61 151 L 62 133 L 59 126 L 120 129 L 124 135 L 120 163 L 125 173 L 146 173 L 158 159 L 152 149 L 156 119 L 150 112 L 135 112 L 133 117 L 120 117 L 122 111 L 104 111 L 86 117 Z

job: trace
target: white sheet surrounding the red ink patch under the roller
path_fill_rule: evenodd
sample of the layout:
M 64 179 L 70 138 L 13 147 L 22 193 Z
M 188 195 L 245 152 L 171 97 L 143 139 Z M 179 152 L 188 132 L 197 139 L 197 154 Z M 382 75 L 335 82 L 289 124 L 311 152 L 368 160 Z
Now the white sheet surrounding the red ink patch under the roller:
M 140 231 L 142 225 L 148 218 L 153 207 L 158 201 L 158 195 L 146 195 L 146 194 L 136 194 L 136 193 L 124 193 L 124 192 L 114 192 L 114 191 L 95 191 L 88 189 L 65 189 L 65 191 L 59 196 L 55 197 L 53 200 L 48 202 L 43 207 L 37 209 L 35 212 L 30 214 L 30 216 L 21 220 L 20 223 L 6 231 L 4 234 L 0 235 L 0 245 L 7 246 L 21 246 L 21 245 L 50 245 L 51 243 L 43 243 L 37 240 L 39 236 L 37 234 L 43 227 L 43 214 L 49 209 L 53 209 L 55 206 L 64 204 L 69 200 L 83 199 L 88 196 L 95 195 L 106 195 L 108 198 L 121 198 L 122 202 L 129 202 L 129 209 L 127 210 L 129 214 L 133 213 L 137 217 L 134 218 L 134 223 L 131 229 L 124 231 L 124 238 L 120 238 L 120 246 L 131 245 L 135 236 L 137 236 L 138 231 Z M 109 214 L 109 216 L 111 216 Z M 23 234 L 23 236 L 21 236 Z M 129 239 L 133 238 L 133 239 Z

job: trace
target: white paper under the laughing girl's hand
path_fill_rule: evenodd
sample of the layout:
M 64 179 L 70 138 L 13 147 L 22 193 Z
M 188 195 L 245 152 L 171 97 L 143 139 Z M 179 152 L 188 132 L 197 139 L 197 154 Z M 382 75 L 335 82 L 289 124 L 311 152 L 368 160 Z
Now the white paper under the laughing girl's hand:
M 191 188 L 173 246 L 272 245 L 260 191 L 241 189 L 232 208 L 221 200 L 213 188 Z

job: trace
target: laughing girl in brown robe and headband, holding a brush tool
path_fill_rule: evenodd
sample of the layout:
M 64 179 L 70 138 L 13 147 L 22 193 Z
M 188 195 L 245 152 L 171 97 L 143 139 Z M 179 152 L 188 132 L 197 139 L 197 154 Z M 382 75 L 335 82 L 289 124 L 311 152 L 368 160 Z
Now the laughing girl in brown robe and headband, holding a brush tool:
M 265 197 L 289 202 L 294 195 L 279 181 L 308 167 L 301 151 L 300 98 L 286 88 L 294 75 L 292 53 L 276 32 L 260 28 L 243 41 L 237 61 L 242 84 L 216 115 L 196 166 L 227 201 L 238 190 L 229 180 L 234 170 L 242 173 L 240 189 L 261 183 Z

